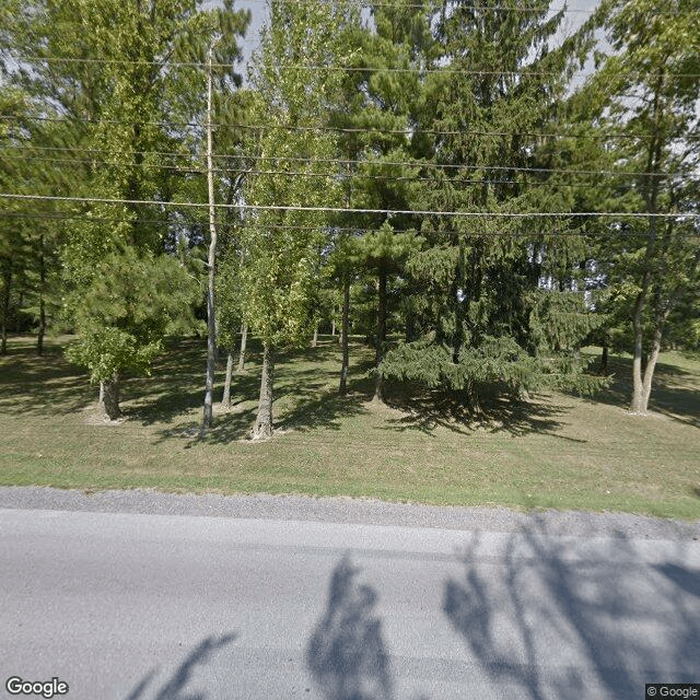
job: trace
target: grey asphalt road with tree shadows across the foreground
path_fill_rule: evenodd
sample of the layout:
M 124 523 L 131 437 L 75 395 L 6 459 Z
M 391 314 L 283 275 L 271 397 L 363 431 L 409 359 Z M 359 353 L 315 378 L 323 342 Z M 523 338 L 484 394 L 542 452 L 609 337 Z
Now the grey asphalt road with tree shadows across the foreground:
M 1 491 L 2 700 L 27 697 L 13 676 L 56 677 L 68 700 L 642 700 L 645 682 L 700 682 L 697 524 Z

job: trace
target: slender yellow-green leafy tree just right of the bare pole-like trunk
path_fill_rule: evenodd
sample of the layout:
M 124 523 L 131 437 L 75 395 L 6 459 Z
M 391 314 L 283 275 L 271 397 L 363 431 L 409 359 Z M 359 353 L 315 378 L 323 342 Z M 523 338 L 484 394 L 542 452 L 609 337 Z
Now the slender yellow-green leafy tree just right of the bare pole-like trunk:
M 266 125 L 258 130 L 257 152 L 268 167 L 246 178 L 244 197 L 252 209 L 242 229 L 242 312 L 264 348 L 254 439 L 272 434 L 276 351 L 305 342 L 315 326 L 316 257 L 328 217 L 304 209 L 339 202 L 332 164 L 324 162 L 336 153 L 335 138 L 317 128 L 337 98 L 339 77 L 305 66 L 342 63 L 347 47 L 339 27 L 346 10 L 343 3 L 272 0 L 253 75 Z

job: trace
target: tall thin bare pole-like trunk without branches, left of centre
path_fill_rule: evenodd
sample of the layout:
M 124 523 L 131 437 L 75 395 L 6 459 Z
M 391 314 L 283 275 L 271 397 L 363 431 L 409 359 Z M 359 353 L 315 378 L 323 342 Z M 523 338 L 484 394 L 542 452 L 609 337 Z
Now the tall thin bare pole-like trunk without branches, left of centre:
M 214 370 L 217 363 L 217 317 L 214 314 L 214 268 L 217 264 L 217 226 L 214 225 L 214 178 L 212 159 L 212 47 L 209 47 L 209 66 L 207 72 L 207 184 L 209 188 L 209 288 L 207 290 L 207 382 L 205 390 L 205 413 L 200 434 L 203 438 L 207 429 L 213 423 Z

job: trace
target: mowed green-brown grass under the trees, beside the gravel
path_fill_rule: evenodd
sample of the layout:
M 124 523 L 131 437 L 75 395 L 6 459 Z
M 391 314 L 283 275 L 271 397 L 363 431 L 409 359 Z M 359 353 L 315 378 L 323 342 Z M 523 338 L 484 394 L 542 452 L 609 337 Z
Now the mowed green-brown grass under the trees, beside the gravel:
M 172 343 L 151 377 L 122 388 L 126 419 L 96 420 L 97 389 L 67 363 L 67 338 L 37 358 L 12 337 L 0 358 L 0 485 L 86 491 L 156 488 L 372 497 L 434 504 L 627 511 L 700 518 L 700 361 L 662 355 L 649 417 L 627 412 L 629 358 L 614 357 L 595 397 L 533 396 L 488 420 L 455 416 L 435 397 L 371 399 L 371 352 L 351 348 L 350 393 L 337 395 L 336 338 L 279 358 L 278 434 L 250 442 L 259 348 L 234 376 L 234 408 L 197 435 L 206 343 Z M 222 359 L 223 360 L 223 359 Z M 217 399 L 221 397 L 223 364 Z

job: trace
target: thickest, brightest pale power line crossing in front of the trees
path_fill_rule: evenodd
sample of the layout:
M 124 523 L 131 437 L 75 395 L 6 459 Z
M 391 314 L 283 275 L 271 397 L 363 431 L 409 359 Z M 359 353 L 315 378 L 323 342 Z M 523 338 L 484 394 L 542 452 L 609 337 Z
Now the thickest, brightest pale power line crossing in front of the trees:
M 209 207 L 208 203 L 200 202 L 174 202 L 159 201 L 154 199 L 107 199 L 102 197 L 58 197 L 52 195 L 12 195 L 9 192 L 0 192 L 0 198 L 19 199 L 19 200 L 37 200 L 37 201 L 73 201 L 82 203 L 102 203 L 102 205 L 140 205 L 140 206 L 160 206 L 160 207 L 185 207 L 201 208 Z M 614 212 L 614 211 L 541 211 L 541 212 L 486 212 L 486 211 L 434 211 L 434 210 L 413 210 L 413 209 L 350 209 L 347 207 L 302 207 L 299 205 L 247 205 L 247 203 L 218 203 L 214 207 L 219 209 L 243 209 L 253 211 L 306 211 L 306 212 L 327 212 L 327 213 L 350 213 L 350 214 L 407 214 L 415 217 L 465 217 L 465 218 L 499 218 L 499 219 L 528 219 L 528 218 L 576 218 L 576 217 L 615 217 L 622 219 L 681 219 L 681 218 L 699 218 L 700 214 L 695 212 L 676 212 L 676 213 L 643 213 L 643 212 Z

